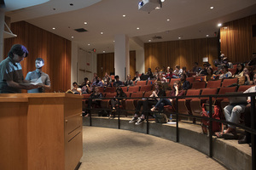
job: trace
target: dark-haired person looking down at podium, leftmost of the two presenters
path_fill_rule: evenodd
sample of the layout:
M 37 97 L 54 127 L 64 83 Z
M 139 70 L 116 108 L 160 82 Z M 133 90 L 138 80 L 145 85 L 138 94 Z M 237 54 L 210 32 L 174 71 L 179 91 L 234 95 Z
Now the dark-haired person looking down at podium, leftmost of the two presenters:
M 20 62 L 27 57 L 28 51 L 21 44 L 9 50 L 8 57 L 0 63 L 0 94 L 18 94 L 21 89 L 39 88 L 24 80 Z

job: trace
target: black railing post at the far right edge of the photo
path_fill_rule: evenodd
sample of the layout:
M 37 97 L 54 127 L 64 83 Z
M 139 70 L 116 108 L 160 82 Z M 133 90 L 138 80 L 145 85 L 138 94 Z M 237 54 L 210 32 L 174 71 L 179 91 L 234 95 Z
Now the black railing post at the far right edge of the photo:
M 252 129 L 256 129 L 256 125 L 255 125 L 255 96 L 251 96 L 251 125 L 252 125 Z M 256 170 L 256 157 L 255 157 L 255 151 L 256 151 L 256 147 L 255 147 L 255 140 L 256 140 L 256 135 L 251 133 L 251 142 L 252 142 L 252 169 Z

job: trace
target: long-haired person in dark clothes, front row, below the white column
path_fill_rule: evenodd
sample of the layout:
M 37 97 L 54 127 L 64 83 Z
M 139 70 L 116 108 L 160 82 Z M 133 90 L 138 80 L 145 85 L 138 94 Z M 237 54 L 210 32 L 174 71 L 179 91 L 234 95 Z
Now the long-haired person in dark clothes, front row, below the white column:
M 122 105 L 122 100 L 125 99 L 119 99 L 119 98 L 127 98 L 127 95 L 123 91 L 122 88 L 116 88 L 116 95 L 114 96 L 113 99 L 111 99 L 111 108 L 112 108 L 112 114 L 109 115 L 109 118 L 114 118 L 115 114 L 115 105 Z

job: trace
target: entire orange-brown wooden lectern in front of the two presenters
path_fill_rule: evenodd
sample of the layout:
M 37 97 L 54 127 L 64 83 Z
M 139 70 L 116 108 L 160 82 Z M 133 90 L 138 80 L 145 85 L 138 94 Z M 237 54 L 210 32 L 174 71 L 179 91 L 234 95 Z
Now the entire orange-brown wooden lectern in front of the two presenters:
M 82 98 L 0 94 L 0 169 L 75 169 L 83 156 Z

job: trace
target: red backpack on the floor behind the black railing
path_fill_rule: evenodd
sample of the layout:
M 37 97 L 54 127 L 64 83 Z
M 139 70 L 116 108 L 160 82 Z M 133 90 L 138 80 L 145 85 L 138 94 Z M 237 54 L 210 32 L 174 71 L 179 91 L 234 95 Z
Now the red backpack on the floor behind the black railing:
M 207 104 L 203 104 L 201 109 L 202 109 L 201 116 L 209 117 L 210 106 Z M 218 105 L 212 105 L 212 118 L 218 119 L 218 120 L 220 119 L 220 109 Z M 209 127 L 209 121 L 201 119 L 201 129 L 203 133 L 208 133 L 208 127 Z M 220 123 L 212 121 L 212 133 L 219 132 L 220 129 L 221 129 Z

